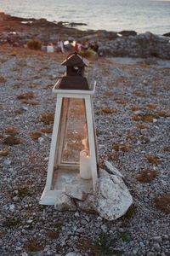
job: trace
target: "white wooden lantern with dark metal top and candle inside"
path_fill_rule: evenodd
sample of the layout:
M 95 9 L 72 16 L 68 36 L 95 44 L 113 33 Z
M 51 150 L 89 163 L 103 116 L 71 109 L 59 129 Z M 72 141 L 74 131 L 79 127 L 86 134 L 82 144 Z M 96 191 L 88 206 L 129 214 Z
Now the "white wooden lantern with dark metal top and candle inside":
M 84 77 L 87 64 L 81 55 L 68 55 L 62 65 L 66 66 L 65 76 L 53 89 L 57 102 L 42 205 L 54 205 L 68 184 L 93 194 L 98 177 L 92 105 L 95 83 L 89 87 Z

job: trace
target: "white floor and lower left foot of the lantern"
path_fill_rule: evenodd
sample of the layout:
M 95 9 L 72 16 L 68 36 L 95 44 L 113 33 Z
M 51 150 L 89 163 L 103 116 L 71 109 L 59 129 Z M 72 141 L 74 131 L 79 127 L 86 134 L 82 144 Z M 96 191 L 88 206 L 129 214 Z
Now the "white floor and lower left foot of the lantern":
M 54 169 L 51 189 L 44 189 L 40 199 L 41 205 L 53 206 L 56 199 L 65 192 L 65 185 L 78 186 L 86 194 L 93 194 L 92 179 L 82 179 L 79 170 Z

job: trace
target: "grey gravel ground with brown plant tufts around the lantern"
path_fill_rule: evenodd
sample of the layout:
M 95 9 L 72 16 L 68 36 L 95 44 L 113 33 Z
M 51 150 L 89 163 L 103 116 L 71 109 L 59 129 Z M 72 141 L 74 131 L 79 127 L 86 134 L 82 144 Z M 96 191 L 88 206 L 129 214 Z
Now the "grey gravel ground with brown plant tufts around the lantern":
M 54 113 L 51 89 L 65 70 L 65 57 L 26 49 L 0 53 L 0 154 L 7 154 L 0 156 L 0 254 L 170 255 L 170 63 L 101 58 L 87 68 L 88 78 L 97 81 L 99 164 L 110 160 L 133 195 L 127 214 L 109 222 L 94 213 L 39 205 L 51 141 L 47 128 L 53 127 L 42 123 L 41 114 Z M 26 92 L 34 97 L 17 98 Z M 39 138 L 33 139 L 36 131 Z M 19 144 L 5 144 L 11 133 Z M 154 173 L 149 183 L 138 178 L 144 170 Z M 155 198 L 161 198 L 161 209 Z

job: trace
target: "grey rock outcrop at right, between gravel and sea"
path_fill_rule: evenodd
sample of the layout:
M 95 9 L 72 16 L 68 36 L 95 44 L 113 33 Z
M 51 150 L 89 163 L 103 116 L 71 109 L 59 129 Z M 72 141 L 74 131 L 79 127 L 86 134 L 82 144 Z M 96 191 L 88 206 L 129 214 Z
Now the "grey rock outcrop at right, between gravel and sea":
M 120 57 L 158 57 L 170 59 L 169 38 L 145 32 L 136 36 L 116 38 L 99 47 L 103 55 Z

